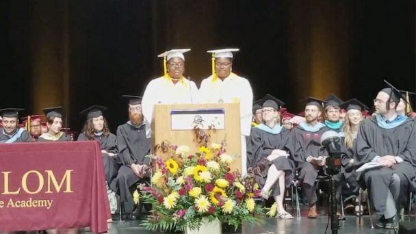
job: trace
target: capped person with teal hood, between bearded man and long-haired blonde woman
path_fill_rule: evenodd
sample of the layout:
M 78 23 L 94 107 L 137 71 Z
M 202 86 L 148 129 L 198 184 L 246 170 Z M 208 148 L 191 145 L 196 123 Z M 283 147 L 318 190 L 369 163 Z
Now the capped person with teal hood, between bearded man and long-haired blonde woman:
M 328 98 L 324 101 L 325 105 L 325 125 L 326 127 L 330 128 L 333 131 L 339 133 L 342 127 L 341 121 L 341 108 L 339 108 L 339 104 L 343 101 L 339 99 L 339 97 L 335 96 L 335 94 L 330 94 Z

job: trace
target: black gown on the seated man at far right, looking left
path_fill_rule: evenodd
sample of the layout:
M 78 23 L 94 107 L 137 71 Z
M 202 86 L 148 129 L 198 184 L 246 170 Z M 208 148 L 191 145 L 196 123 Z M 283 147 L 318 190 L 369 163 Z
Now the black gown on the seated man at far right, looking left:
M 406 200 L 408 189 L 416 187 L 416 121 L 405 120 L 398 127 L 384 129 L 377 124 L 376 116 L 361 122 L 356 138 L 356 167 L 372 161 L 376 156 L 394 155 L 404 161 L 392 168 L 376 168 L 363 172 L 365 185 L 370 188 L 374 207 L 384 211 L 389 183 L 393 173 L 400 177 L 400 200 Z

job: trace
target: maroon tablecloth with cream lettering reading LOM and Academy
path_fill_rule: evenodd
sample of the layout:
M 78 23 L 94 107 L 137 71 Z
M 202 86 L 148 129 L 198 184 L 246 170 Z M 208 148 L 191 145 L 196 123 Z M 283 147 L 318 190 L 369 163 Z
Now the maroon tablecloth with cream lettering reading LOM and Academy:
M 0 231 L 101 233 L 108 218 L 98 142 L 0 144 Z

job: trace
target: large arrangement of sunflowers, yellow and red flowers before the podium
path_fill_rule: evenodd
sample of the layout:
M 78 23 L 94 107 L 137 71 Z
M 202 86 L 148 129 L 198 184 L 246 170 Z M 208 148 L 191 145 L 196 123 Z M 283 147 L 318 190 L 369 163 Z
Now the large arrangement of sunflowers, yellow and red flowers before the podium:
M 263 208 L 255 203 L 261 190 L 254 179 L 230 171 L 233 157 L 225 143 L 201 146 L 190 154 L 188 146 L 168 145 L 166 161 L 155 156 L 152 187 L 141 188 L 141 199 L 153 210 L 142 222 L 148 230 L 196 230 L 203 219 L 220 220 L 238 228 L 242 222 L 259 222 Z

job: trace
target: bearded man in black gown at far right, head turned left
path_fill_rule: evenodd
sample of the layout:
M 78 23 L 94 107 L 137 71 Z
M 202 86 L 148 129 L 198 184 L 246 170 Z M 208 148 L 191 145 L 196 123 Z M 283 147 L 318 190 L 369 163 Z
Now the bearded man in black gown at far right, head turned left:
M 416 187 L 416 121 L 395 109 L 403 96 L 389 88 L 374 99 L 375 115 L 361 122 L 356 138 L 354 165 L 362 166 L 363 181 L 370 190 L 374 208 L 383 215 L 376 223 L 397 229 L 400 206 Z M 378 166 L 369 168 L 370 163 Z

